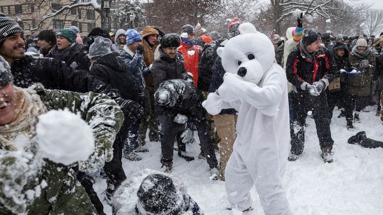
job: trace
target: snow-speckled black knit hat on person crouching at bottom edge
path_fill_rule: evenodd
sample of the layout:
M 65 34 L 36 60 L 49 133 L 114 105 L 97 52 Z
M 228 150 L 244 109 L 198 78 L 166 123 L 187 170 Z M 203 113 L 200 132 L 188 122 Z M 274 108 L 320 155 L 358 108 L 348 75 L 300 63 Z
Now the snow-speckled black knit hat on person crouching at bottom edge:
M 180 196 L 173 181 L 162 174 L 147 176 L 137 191 L 138 204 L 151 214 L 178 214 Z

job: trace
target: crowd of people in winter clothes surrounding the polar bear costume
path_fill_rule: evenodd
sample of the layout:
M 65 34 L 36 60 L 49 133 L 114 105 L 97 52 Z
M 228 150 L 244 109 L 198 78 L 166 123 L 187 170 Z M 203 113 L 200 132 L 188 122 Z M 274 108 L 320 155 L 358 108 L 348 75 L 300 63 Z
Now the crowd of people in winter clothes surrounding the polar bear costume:
M 79 111 L 92 127 L 98 144 L 87 161 L 71 166 L 49 161 L 37 182 L 36 176 L 26 184 L 16 181 L 23 189 L 40 186 L 43 190 L 41 197 L 24 204 L 26 208 L 6 194 L 6 181 L 0 179 L 0 214 L 104 215 L 93 189 L 92 177 L 99 175 L 107 179 L 105 198 L 117 213 L 123 203 L 113 196 L 121 196 L 127 192 L 121 189 L 131 184 L 122 159 L 142 160 L 139 153 L 149 151 L 148 134 L 149 141 L 161 142 L 159 162 L 165 173 L 140 176 L 143 182 L 135 191 L 139 200 L 134 212 L 202 215 L 186 192 L 180 194 L 180 185 L 173 184 L 177 181 L 170 175 L 174 143 L 177 141 L 178 156 L 187 162 L 194 160 L 187 144 L 195 141 L 196 131 L 198 159 L 206 160 L 212 180 L 225 180 L 225 167 L 237 135 L 237 110 L 227 108 L 210 115 L 202 102 L 223 83 L 225 70 L 217 49 L 240 34 L 240 24 L 239 18 L 231 18 L 227 37 L 216 31 L 209 33 L 198 23 L 194 27 L 186 24 L 178 33 L 165 33 L 157 26 L 146 26 L 142 32 L 108 32 L 96 27 L 81 38 L 76 26 L 24 35 L 16 21 L 0 14 L 0 155 L 20 149 L 33 151 L 35 144 L 20 146 L 16 137 L 21 133 L 33 143 L 37 117 L 49 109 Z M 346 118 L 349 130 L 363 120 L 360 112 L 367 106 L 377 104 L 377 116 L 381 116 L 383 33 L 380 37 L 348 37 L 331 31 L 321 34 L 304 29 L 300 14 L 297 26 L 289 27 L 285 36 L 271 34 L 269 39 L 274 45 L 275 63 L 286 72 L 289 89 L 288 160 L 297 160 L 303 152 L 306 117 L 312 111 L 322 157 L 331 163 L 334 140 L 330 123 L 335 107 L 341 110 L 338 117 Z M 366 144 L 361 144 L 363 141 Z M 373 146 L 367 142 L 373 142 Z M 358 133 L 349 143 L 383 146 L 365 133 Z M 0 178 L 11 177 L 14 162 L 11 155 L 0 156 L 0 164 L 9 166 L 1 171 Z M 46 174 L 58 167 L 65 171 Z M 46 186 L 41 186 L 43 181 Z M 169 189 L 174 198 L 160 197 Z M 66 190 L 75 195 L 64 195 Z M 153 199 L 153 192 L 159 199 Z M 182 207 L 170 210 L 174 201 L 182 202 Z M 248 210 L 251 208 L 244 211 Z

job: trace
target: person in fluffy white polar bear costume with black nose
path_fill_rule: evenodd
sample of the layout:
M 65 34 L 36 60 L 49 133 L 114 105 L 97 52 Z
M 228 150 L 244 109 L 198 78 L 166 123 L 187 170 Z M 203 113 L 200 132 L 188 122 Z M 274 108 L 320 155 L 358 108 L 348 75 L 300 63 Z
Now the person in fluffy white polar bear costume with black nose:
M 255 185 L 265 215 L 291 215 L 282 187 L 290 142 L 286 74 L 274 63 L 266 35 L 250 23 L 241 24 L 239 32 L 217 49 L 226 73 L 202 104 L 210 114 L 238 110 L 237 138 L 225 170 L 227 198 L 232 208 L 246 210 Z

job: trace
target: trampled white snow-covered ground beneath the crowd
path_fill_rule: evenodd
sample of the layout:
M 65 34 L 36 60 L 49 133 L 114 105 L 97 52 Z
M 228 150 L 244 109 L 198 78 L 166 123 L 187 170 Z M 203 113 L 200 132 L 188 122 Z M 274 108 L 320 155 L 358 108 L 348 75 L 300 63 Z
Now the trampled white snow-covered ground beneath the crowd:
M 366 109 L 370 112 L 361 112 L 361 123 L 354 124 L 354 132 L 346 129 L 346 119 L 337 118 L 340 111 L 334 110 L 331 132 L 335 161 L 330 164 L 324 163 L 320 156 L 314 119 L 307 118 L 305 150 L 299 160 L 288 163 L 283 180 L 294 215 L 383 214 L 383 148 L 369 149 L 347 143 L 350 136 L 362 130 L 369 138 L 383 140 L 383 126 L 375 116 L 376 107 Z M 196 133 L 195 138 L 198 143 Z M 187 145 L 187 151 L 196 158 L 192 162 L 186 162 L 175 151 L 172 174 L 185 183 L 189 195 L 205 215 L 231 215 L 224 210 L 229 206 L 224 182 L 209 180 L 206 161 L 197 158 L 197 143 Z M 127 176 L 144 168 L 160 170 L 160 142 L 149 142 L 147 146 L 149 152 L 139 153 L 143 157 L 141 161 L 123 158 Z M 105 180 L 97 179 L 95 190 L 103 201 L 105 213 L 111 215 L 111 208 L 101 194 L 105 188 Z M 254 210 L 246 215 L 263 215 L 255 189 L 251 194 Z

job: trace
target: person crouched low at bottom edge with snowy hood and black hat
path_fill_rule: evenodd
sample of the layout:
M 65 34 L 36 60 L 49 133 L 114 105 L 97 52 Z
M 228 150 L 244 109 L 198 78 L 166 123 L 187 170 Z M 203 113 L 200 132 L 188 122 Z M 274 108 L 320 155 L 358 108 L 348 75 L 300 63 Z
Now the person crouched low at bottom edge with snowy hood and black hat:
M 112 203 L 116 215 L 203 215 L 179 179 L 149 169 L 124 181 Z

